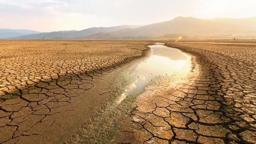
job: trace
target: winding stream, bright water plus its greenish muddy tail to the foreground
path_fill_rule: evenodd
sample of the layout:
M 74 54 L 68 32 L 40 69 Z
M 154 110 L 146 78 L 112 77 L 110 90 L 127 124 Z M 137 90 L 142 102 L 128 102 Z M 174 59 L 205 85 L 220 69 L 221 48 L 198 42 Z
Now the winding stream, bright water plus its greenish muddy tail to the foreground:
M 90 125 L 86 125 L 87 130 L 82 134 L 83 140 L 97 136 L 96 141 L 100 141 L 100 143 L 113 143 L 112 136 L 115 136 L 126 117 L 126 111 L 131 110 L 131 104 L 136 100 L 131 98 L 137 98 L 137 95 L 144 91 L 147 85 L 155 86 L 151 85 L 151 81 L 153 84 L 157 77 L 167 76 L 167 79 L 170 78 L 174 80 L 176 77 L 171 77 L 174 76 L 174 74 L 183 75 L 184 72 L 186 73 L 191 60 L 189 55 L 182 53 L 178 49 L 164 46 L 164 43 L 155 43 L 148 47 L 150 47 L 151 50 L 150 55 L 127 70 L 129 75 L 130 72 L 132 73 L 133 81 L 128 84 L 128 87 L 122 95 L 118 94 L 119 97 L 117 97 L 117 100 L 114 101 L 113 104 L 108 106 L 102 114 L 96 116 Z M 127 73 L 125 72 L 121 73 L 121 75 L 126 76 L 125 74 Z M 116 88 L 118 89 L 119 87 Z M 158 86 L 154 88 L 158 88 Z M 132 94 L 135 94 L 134 97 L 131 96 L 130 100 L 128 98 L 127 101 L 121 103 L 126 96 Z M 110 136 L 105 137 L 106 133 Z

